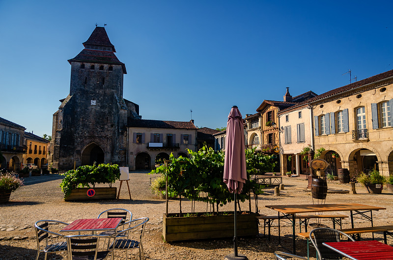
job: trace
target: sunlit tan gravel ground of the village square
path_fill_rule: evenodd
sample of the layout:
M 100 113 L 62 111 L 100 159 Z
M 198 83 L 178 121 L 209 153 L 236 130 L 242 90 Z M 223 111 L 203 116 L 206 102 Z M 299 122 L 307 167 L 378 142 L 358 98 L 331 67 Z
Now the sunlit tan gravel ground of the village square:
M 34 222 L 41 219 L 55 219 L 70 223 L 77 218 L 96 218 L 98 214 L 108 208 L 127 208 L 133 212 L 133 219 L 149 217 L 144 236 L 144 251 L 146 259 L 150 260 L 207 260 L 224 259 L 225 255 L 233 252 L 232 238 L 207 239 L 197 241 L 184 241 L 165 243 L 162 236 L 162 216 L 165 212 L 165 201 L 152 195 L 149 189 L 149 175 L 145 172 L 131 173 L 130 186 L 132 201 L 128 198 L 127 188 L 123 183 L 119 200 L 93 201 L 93 202 L 64 202 L 63 193 L 58 184 L 61 176 L 39 176 L 25 178 L 25 186 L 11 194 L 10 202 L 0 206 L 0 260 L 12 259 L 35 259 L 36 240 L 33 229 Z M 312 204 L 310 192 L 306 191 L 307 181 L 301 178 L 288 178 L 282 176 L 285 190 L 281 196 L 274 196 L 274 188 L 266 188 L 264 195 L 259 196 L 258 208 L 260 214 L 276 215 L 277 212 L 265 208 L 265 205 L 288 205 L 288 204 Z M 119 186 L 119 182 L 114 184 Z M 347 184 L 338 181 L 329 182 L 329 188 L 349 190 Z M 392 194 L 381 195 L 368 194 L 366 189 L 357 184 L 358 194 L 329 193 L 326 203 L 360 203 L 387 208 L 386 210 L 374 211 L 374 225 L 392 225 L 393 208 Z M 179 202 L 169 202 L 169 212 L 178 212 Z M 255 210 L 255 202 L 252 202 L 252 210 Z M 241 204 L 241 209 L 248 210 L 248 202 Z M 233 204 L 226 205 L 220 210 L 233 210 Z M 191 203 L 182 202 L 182 211 L 191 210 Z M 205 211 L 206 204 L 197 203 L 196 211 Z M 349 212 L 337 212 L 348 214 Z M 331 221 L 321 221 L 331 225 Z M 356 227 L 368 226 L 364 220 L 355 219 Z M 275 222 L 273 225 L 277 225 Z M 343 220 L 343 228 L 350 228 L 350 220 Z M 286 248 L 291 248 L 292 228 L 288 224 L 283 225 L 281 243 Z M 298 227 L 297 227 L 298 230 Z M 259 232 L 263 233 L 263 223 L 259 226 Z M 239 253 L 244 254 L 250 260 L 274 259 L 274 251 L 287 251 L 278 245 L 278 229 L 272 227 L 272 239 L 269 242 L 265 237 L 239 238 Z M 370 237 L 364 234 L 362 237 Z M 376 234 L 377 240 L 383 241 L 382 234 Z M 57 238 L 52 237 L 52 240 Z M 388 244 L 393 244 L 388 240 Z M 307 256 L 307 247 L 304 239 L 297 238 L 297 254 Z M 130 251 L 131 259 L 139 259 L 137 251 Z M 315 251 L 310 250 L 311 256 Z M 43 254 L 40 259 L 44 259 Z M 67 259 L 66 254 L 49 254 L 48 259 Z M 124 252 L 116 252 L 115 259 L 125 259 Z

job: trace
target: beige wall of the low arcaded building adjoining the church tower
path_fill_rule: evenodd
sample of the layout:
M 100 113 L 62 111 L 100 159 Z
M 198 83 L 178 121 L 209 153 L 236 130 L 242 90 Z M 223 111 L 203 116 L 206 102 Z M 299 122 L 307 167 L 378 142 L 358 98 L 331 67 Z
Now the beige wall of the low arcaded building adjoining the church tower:
M 134 171 L 136 168 L 141 168 L 141 160 L 148 158 L 148 165 L 145 165 L 145 169 L 155 169 L 156 156 L 164 153 L 169 156 L 171 153 L 175 156 L 187 156 L 188 149 L 196 151 L 196 138 L 197 130 L 190 129 L 158 129 L 158 128 L 128 128 L 128 166 L 129 169 Z M 144 134 L 144 140 L 140 143 L 134 143 L 134 133 Z M 162 134 L 163 140 L 160 143 L 167 143 L 167 134 L 172 134 L 175 138 L 172 139 L 172 143 L 178 143 L 179 148 L 170 147 L 150 147 L 149 143 L 153 143 L 151 140 L 151 134 Z M 188 134 L 191 136 L 189 144 L 182 144 L 181 136 Z M 147 161 L 147 159 L 146 159 Z

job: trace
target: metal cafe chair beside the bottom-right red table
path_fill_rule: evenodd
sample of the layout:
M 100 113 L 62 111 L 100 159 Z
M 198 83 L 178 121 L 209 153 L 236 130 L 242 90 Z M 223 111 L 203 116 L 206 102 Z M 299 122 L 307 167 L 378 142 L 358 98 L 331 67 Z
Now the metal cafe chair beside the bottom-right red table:
M 324 242 L 340 242 L 340 235 L 355 241 L 350 235 L 336 229 L 316 228 L 310 231 L 309 239 L 316 249 L 319 260 L 340 260 L 342 256 L 330 248 L 322 245 Z

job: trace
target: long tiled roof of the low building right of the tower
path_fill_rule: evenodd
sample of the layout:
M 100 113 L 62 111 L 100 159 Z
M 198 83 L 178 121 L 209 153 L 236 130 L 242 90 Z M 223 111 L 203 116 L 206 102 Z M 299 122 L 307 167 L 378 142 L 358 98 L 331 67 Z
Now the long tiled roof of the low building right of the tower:
M 127 126 L 139 128 L 197 129 L 191 122 L 132 119 L 130 117 L 127 120 Z

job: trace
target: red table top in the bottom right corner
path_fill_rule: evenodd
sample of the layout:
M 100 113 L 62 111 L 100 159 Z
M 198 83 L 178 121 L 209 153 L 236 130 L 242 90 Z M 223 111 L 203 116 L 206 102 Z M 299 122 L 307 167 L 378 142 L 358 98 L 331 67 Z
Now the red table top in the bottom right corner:
M 393 247 L 375 240 L 324 243 L 356 260 L 393 260 Z M 344 256 L 345 256 L 344 255 Z

